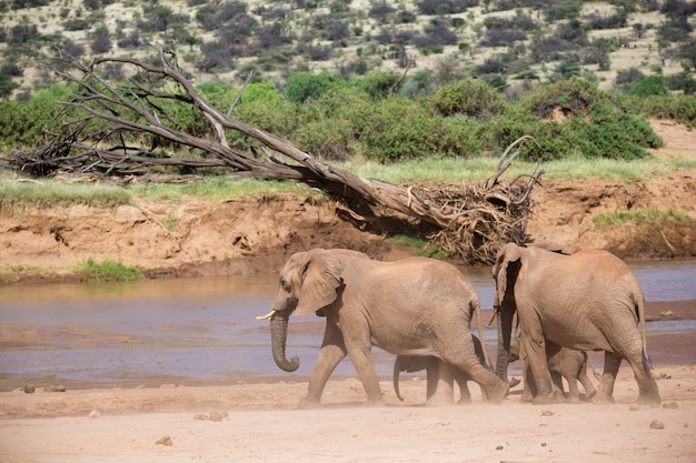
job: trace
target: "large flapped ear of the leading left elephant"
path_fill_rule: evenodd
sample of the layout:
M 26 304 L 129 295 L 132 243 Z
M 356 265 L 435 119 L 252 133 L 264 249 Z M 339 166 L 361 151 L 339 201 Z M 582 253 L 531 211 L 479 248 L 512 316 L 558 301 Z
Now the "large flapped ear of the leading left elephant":
M 329 305 L 336 300 L 336 290 L 342 283 L 344 265 L 330 251 L 317 249 L 308 255 L 307 264 L 301 269 L 296 315 L 307 315 Z

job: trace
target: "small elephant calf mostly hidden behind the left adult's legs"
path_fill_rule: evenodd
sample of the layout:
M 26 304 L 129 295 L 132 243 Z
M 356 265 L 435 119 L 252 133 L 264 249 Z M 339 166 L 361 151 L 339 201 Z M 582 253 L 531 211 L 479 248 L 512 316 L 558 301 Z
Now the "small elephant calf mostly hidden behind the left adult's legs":
M 486 353 L 484 352 L 484 346 L 478 338 L 471 334 L 471 342 L 474 342 L 474 350 L 476 352 L 476 356 L 481 362 L 483 365 L 488 368 L 488 359 Z M 430 400 L 436 393 L 437 389 L 437 375 L 438 375 L 438 360 L 434 356 L 415 356 L 415 355 L 397 355 L 396 361 L 394 362 L 394 392 L 396 396 L 402 401 L 401 394 L 399 392 L 399 374 L 405 371 L 407 373 L 415 373 L 417 371 L 426 370 L 426 381 L 427 381 L 427 392 L 426 397 Z M 471 393 L 469 392 L 469 387 L 467 382 L 471 379 L 468 374 L 459 369 L 454 369 L 453 371 L 454 380 L 459 385 L 459 403 L 470 403 L 471 402 Z

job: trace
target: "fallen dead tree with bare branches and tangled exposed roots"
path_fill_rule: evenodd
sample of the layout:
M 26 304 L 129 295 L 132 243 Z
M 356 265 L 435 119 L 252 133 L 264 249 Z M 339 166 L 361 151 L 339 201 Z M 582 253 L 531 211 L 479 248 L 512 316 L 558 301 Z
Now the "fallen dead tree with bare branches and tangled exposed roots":
M 105 77 L 108 66 L 127 64 L 125 83 Z M 258 128 L 231 118 L 206 101 L 177 66 L 177 58 L 160 51 L 160 63 L 131 58 L 98 59 L 89 66 L 56 58 L 50 69 L 78 89 L 61 102 L 60 130 L 48 133 L 48 143 L 8 158 L 13 169 L 34 175 L 89 173 L 98 178 L 148 175 L 153 168 L 222 168 L 238 177 L 288 179 L 318 188 L 338 199 L 357 222 L 399 218 L 429 225 L 429 240 L 470 263 L 490 263 L 501 242 L 523 243 L 530 213 L 529 193 L 541 171 L 510 182 L 500 177 L 530 137 L 515 141 L 500 158 L 497 171 L 484 182 L 458 187 L 422 188 L 364 179 L 329 165 L 311 153 Z M 202 114 L 210 130 L 203 134 L 183 130 L 161 108 L 176 100 Z M 99 123 L 93 123 L 99 121 Z M 230 131 L 250 142 L 230 145 Z M 173 157 L 146 148 L 138 135 L 165 139 L 203 157 Z M 211 135 L 212 134 L 212 135 Z M 515 151 L 513 151 L 515 150 Z M 161 180 L 161 177 L 158 177 Z

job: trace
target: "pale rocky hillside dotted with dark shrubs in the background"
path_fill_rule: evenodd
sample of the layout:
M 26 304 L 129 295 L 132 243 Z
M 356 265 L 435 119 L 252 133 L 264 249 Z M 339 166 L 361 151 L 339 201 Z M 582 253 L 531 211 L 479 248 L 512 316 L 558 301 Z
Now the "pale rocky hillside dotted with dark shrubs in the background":
M 10 0 L 0 90 L 50 85 L 41 54 L 153 56 L 149 44 L 175 50 L 197 83 L 408 69 L 408 94 L 466 77 L 518 87 L 581 74 L 608 89 L 693 68 L 695 12 L 686 0 Z

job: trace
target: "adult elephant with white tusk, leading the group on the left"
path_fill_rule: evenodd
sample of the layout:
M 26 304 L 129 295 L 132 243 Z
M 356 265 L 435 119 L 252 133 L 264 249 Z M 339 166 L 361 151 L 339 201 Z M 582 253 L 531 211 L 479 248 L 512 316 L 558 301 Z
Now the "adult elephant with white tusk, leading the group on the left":
M 382 402 L 371 346 L 397 355 L 440 361 L 438 390 L 453 387 L 451 366 L 466 372 L 488 401 L 501 402 L 508 384 L 481 365 L 471 342 L 471 316 L 480 310 L 474 288 L 455 266 L 427 258 L 380 262 L 350 250 L 314 249 L 292 254 L 280 270 L 271 312 L 274 360 L 286 358 L 288 319 L 326 316 L 324 342 L 301 407 L 320 403 L 329 375 L 346 355 L 365 386 L 368 403 Z M 451 396 L 451 393 L 449 393 Z

